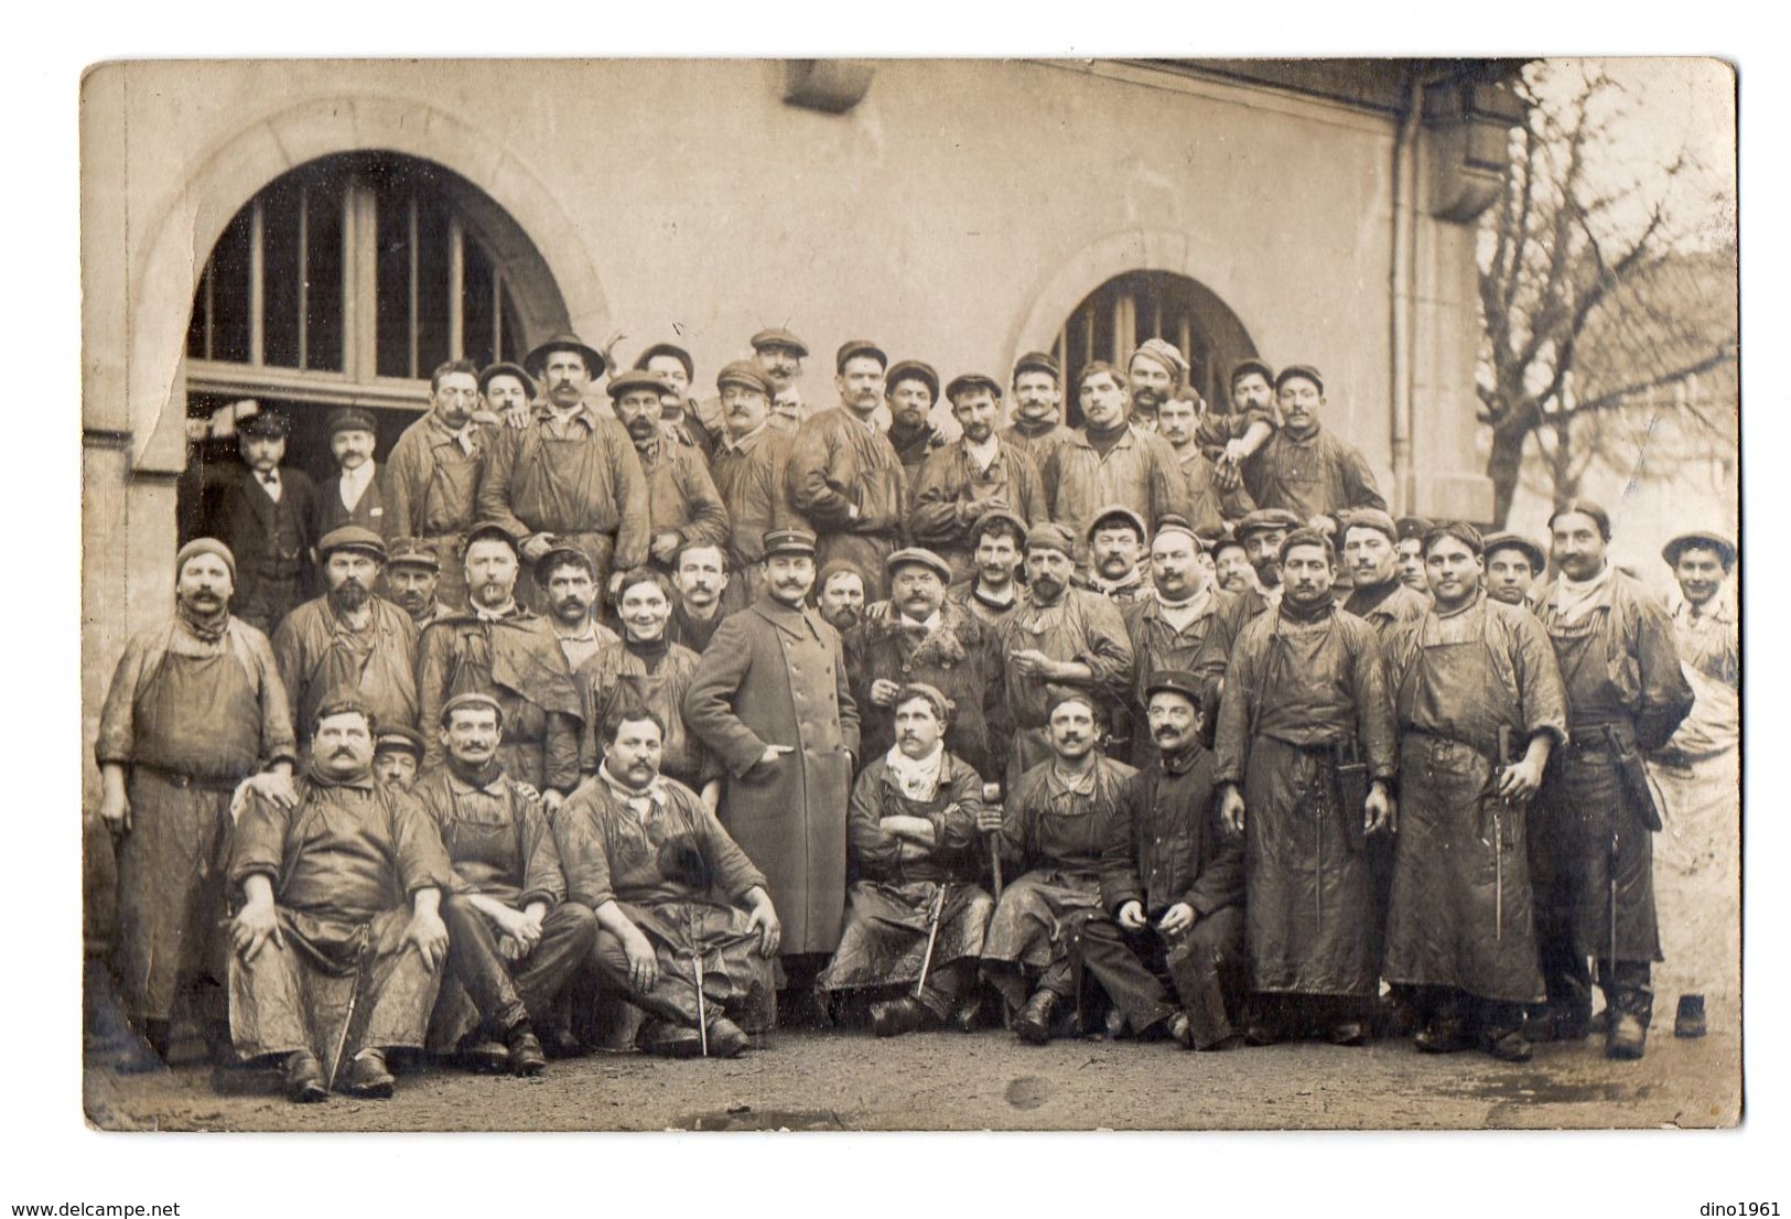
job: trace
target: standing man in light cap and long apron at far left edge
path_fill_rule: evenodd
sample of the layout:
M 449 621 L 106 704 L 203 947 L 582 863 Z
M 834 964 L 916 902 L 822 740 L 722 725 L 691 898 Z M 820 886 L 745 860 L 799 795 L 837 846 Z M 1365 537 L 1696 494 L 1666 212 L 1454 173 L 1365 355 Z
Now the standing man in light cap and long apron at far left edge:
M 269 771 L 294 798 L 292 707 L 267 635 L 231 618 L 236 558 L 199 537 L 174 560 L 174 618 L 131 637 L 100 709 L 93 757 L 100 820 L 118 852 L 113 976 L 147 1049 L 168 1053 L 176 997 L 195 992 L 215 1049 L 227 1049 L 219 865 L 236 784 Z

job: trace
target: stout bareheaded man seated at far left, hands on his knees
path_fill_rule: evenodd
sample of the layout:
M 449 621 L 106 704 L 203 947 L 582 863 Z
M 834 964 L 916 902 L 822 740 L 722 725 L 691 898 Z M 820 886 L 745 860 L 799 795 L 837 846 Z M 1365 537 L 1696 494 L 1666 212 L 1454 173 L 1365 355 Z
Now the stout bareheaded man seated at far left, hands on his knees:
M 283 1058 L 294 1101 L 328 1099 L 344 1065 L 351 1095 L 389 1097 L 385 1054 L 421 1049 L 435 1006 L 453 868 L 416 797 L 373 780 L 362 703 L 326 700 L 312 729 L 297 804 L 251 789 L 236 823 L 231 1038 Z

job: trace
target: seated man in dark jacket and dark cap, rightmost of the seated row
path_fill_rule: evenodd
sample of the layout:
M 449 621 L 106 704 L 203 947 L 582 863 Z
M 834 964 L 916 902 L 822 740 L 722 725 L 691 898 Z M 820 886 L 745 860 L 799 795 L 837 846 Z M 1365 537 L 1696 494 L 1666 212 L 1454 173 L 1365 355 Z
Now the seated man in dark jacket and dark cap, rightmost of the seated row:
M 1250 990 L 1243 943 L 1243 840 L 1213 800 L 1213 754 L 1200 746 L 1211 682 L 1164 669 L 1144 687 L 1159 755 L 1121 793 L 1119 832 L 1101 856 L 1101 900 L 1127 943 L 1175 986 L 1193 1049 L 1236 1042 Z

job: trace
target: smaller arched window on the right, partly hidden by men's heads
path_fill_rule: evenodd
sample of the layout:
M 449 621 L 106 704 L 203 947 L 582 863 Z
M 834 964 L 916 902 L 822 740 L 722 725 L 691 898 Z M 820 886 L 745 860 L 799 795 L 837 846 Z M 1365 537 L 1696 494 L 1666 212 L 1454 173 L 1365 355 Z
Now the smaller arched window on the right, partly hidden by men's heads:
M 1064 367 L 1064 406 L 1071 426 L 1082 422 L 1076 374 L 1094 360 L 1125 369 L 1148 338 L 1180 347 L 1193 385 L 1209 410 L 1230 408 L 1225 376 L 1255 354 L 1255 344 L 1238 315 L 1200 281 L 1168 270 L 1128 270 L 1082 299 L 1064 320 L 1051 354 Z

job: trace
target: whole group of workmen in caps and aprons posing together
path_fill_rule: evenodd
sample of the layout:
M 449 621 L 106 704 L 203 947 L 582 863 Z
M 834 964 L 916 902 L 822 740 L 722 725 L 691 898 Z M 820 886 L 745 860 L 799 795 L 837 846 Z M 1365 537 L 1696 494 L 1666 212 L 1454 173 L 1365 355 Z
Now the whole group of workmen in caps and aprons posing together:
M 1669 619 L 1592 503 L 1547 557 L 1395 521 L 1309 365 L 1221 412 L 1150 340 L 1067 428 L 1032 353 L 947 437 L 922 362 L 847 342 L 811 412 L 806 345 L 752 345 L 704 403 L 648 347 L 607 413 L 577 337 L 444 363 L 383 465 L 333 417 L 322 489 L 242 426 L 100 718 L 145 1065 L 183 1001 L 296 1101 L 998 1013 L 1521 1061 L 1594 981 L 1642 1054 L 1651 834 L 1732 809 L 1732 542 L 1667 546 Z

